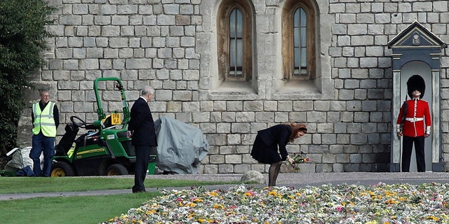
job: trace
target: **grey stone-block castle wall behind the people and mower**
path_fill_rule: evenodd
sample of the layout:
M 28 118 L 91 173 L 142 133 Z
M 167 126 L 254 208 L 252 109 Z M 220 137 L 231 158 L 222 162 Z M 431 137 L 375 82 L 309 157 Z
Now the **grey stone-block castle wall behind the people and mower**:
M 309 134 L 290 144 L 307 153 L 301 172 L 387 172 L 391 141 L 391 50 L 387 43 L 417 20 L 448 41 L 448 1 L 316 1 L 317 73 L 306 87 L 277 78 L 282 0 L 252 0 L 255 82 L 217 85 L 219 0 L 51 0 L 55 38 L 35 81 L 49 86 L 62 125 L 97 119 L 93 80 L 123 80 L 132 104 L 140 87 L 156 89 L 154 118 L 200 127 L 210 143 L 201 172 L 267 172 L 250 157 L 257 130 L 304 122 Z M 441 146 L 448 160 L 449 60 L 441 69 Z M 37 93 L 30 95 L 37 96 Z M 25 119 L 26 120 L 26 119 Z M 27 138 L 24 138 L 27 139 Z M 31 137 L 29 137 L 31 139 Z M 26 144 L 26 143 L 23 143 Z M 283 172 L 291 172 L 283 166 Z

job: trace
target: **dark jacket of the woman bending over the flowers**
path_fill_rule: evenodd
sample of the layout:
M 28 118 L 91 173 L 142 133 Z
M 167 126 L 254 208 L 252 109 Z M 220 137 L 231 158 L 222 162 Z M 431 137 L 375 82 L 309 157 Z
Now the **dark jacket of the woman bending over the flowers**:
M 270 150 L 281 153 L 282 160 L 287 159 L 287 144 L 290 141 L 290 134 L 293 130 L 290 125 L 274 125 L 264 130 L 260 130 L 257 134 Z

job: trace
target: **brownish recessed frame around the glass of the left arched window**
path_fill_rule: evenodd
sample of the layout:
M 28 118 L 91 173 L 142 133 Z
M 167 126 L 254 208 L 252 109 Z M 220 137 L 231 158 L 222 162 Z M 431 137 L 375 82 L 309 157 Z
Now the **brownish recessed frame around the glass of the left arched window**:
M 229 16 L 238 8 L 243 16 L 243 77 L 232 78 L 229 75 Z M 246 0 L 222 1 L 217 13 L 217 60 L 220 82 L 236 85 L 246 83 L 253 78 L 253 10 Z

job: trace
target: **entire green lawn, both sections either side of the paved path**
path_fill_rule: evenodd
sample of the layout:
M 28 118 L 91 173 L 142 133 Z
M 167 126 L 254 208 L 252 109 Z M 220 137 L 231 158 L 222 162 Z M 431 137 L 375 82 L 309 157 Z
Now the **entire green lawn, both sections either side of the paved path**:
M 134 179 L 123 178 L 23 178 L 0 177 L 0 193 L 43 193 L 86 190 L 130 189 Z M 239 181 L 145 180 L 147 188 L 237 184 Z M 101 223 L 109 221 L 159 192 L 102 196 L 39 197 L 0 201 L 0 223 Z

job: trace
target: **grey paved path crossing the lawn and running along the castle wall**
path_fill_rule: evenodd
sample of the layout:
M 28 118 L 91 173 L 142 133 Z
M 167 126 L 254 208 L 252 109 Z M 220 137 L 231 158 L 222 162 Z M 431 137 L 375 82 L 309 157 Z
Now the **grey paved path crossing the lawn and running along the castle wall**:
M 268 174 L 264 174 L 268 179 Z M 117 176 L 114 176 L 116 178 Z M 133 176 L 121 176 L 123 178 L 133 178 Z M 107 178 L 107 176 L 105 176 Z M 147 176 L 151 179 L 177 179 L 177 180 L 196 180 L 196 181 L 240 181 L 241 174 L 188 174 L 188 175 L 152 175 Z M 371 185 L 375 183 L 449 183 L 449 173 L 447 172 L 425 172 L 425 173 L 320 173 L 320 174 L 297 174 L 286 173 L 279 174 L 277 186 L 294 186 L 301 188 L 304 186 L 321 186 L 323 184 L 338 185 L 342 183 Z M 207 186 L 209 189 L 227 189 L 233 185 Z M 267 186 L 266 183 L 255 184 L 256 187 Z M 174 188 L 164 188 L 167 190 Z M 180 189 L 180 188 L 177 188 Z M 147 188 L 147 191 L 159 190 L 157 188 Z M 27 194 L 0 194 L 1 200 L 19 200 L 33 197 L 68 197 L 68 196 L 86 196 L 86 195 L 112 195 L 131 193 L 130 189 L 123 190 L 95 190 L 87 192 L 59 192 L 59 193 L 27 193 Z

